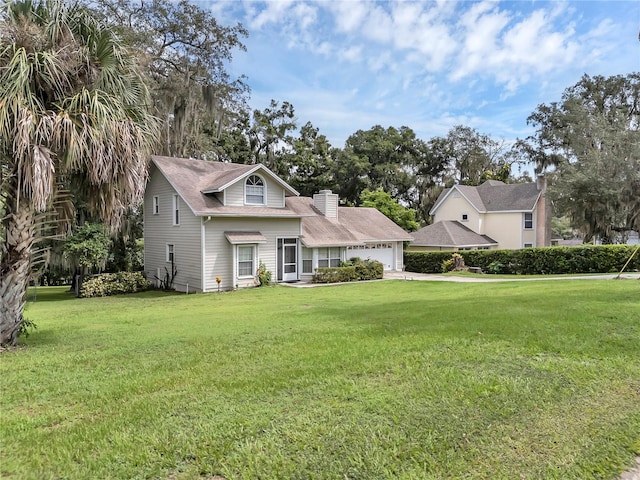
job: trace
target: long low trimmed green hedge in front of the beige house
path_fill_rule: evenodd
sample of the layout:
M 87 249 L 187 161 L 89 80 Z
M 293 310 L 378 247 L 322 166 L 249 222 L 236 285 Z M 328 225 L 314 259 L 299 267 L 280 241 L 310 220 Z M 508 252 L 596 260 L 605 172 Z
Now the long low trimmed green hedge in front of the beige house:
M 487 273 L 544 275 L 561 273 L 619 272 L 635 245 L 586 245 L 581 247 L 523 248 L 520 250 L 462 250 L 458 252 L 405 252 L 405 269 L 416 273 L 441 273 L 443 262 L 453 253 L 468 266 Z M 640 254 L 631 260 L 627 271 L 640 270 Z

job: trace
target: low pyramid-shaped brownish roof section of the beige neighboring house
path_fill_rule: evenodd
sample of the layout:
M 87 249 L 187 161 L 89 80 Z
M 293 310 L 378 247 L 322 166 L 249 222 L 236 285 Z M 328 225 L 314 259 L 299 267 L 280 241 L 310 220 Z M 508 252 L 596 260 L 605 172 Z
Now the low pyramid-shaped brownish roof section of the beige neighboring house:
M 444 220 L 414 232 L 411 245 L 420 247 L 489 247 L 498 245 L 498 242 L 487 235 L 478 235 L 457 220 Z

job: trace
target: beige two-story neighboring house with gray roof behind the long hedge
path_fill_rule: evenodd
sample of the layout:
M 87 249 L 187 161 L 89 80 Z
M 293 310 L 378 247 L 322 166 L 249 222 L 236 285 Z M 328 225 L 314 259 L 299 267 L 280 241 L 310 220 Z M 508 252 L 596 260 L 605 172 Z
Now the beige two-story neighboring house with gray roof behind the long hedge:
M 429 212 L 434 223 L 413 233 L 407 250 L 477 250 L 551 244 L 551 209 L 544 177 L 536 183 L 445 189 Z

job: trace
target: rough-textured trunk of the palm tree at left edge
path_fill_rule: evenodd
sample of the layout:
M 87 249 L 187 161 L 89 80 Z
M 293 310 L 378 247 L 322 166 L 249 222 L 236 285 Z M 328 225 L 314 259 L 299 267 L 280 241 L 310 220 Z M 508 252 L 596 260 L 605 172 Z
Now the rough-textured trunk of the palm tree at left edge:
M 0 259 L 0 345 L 15 345 L 31 274 L 35 229 L 30 202 L 23 200 L 3 224 L 6 237 Z

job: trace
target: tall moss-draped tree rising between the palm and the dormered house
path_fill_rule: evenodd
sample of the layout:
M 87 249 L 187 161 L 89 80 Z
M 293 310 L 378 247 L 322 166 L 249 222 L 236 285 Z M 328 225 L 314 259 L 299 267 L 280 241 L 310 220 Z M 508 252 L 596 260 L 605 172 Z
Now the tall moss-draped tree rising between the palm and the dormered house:
M 143 54 L 154 101 L 163 123 L 155 153 L 215 159 L 216 140 L 246 108 L 248 87 L 228 64 L 244 50 L 246 29 L 220 25 L 207 9 L 189 0 L 86 0 Z

